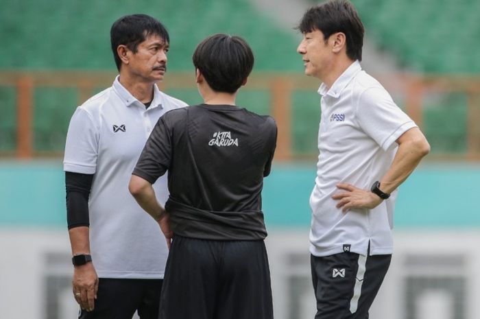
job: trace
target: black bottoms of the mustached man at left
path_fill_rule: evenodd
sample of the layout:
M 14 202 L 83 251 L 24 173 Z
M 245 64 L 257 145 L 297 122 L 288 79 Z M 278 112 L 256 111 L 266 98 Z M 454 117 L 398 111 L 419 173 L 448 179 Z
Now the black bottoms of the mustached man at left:
M 80 310 L 80 319 L 158 319 L 162 279 L 104 279 L 98 283 L 93 311 Z

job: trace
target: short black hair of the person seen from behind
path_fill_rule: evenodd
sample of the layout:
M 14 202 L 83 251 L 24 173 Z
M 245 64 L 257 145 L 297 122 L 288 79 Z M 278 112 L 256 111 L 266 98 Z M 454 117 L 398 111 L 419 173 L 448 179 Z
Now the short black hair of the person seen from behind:
M 226 93 L 237 92 L 254 64 L 248 43 L 228 34 L 208 36 L 197 45 L 192 60 L 213 91 Z

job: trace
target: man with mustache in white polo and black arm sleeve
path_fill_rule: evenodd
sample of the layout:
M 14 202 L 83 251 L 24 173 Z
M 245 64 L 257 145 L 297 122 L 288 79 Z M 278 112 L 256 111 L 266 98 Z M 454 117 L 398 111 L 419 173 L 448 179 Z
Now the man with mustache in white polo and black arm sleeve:
M 167 245 L 159 225 L 128 192 L 145 141 L 169 110 L 186 106 L 158 90 L 169 34 L 145 14 L 123 16 L 110 30 L 119 69 L 110 88 L 79 106 L 64 155 L 73 294 L 80 318 L 157 319 Z M 167 179 L 154 185 L 168 197 Z

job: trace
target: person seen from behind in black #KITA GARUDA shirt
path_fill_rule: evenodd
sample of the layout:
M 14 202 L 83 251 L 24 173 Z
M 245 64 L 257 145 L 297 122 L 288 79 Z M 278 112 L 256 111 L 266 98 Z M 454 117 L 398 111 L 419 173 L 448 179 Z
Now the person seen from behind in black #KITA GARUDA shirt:
M 162 318 L 273 318 L 261 191 L 276 124 L 235 106 L 253 62 L 238 36 L 202 41 L 193 64 L 204 104 L 158 121 L 130 180 L 130 192 L 171 245 Z M 152 183 L 167 170 L 164 209 Z

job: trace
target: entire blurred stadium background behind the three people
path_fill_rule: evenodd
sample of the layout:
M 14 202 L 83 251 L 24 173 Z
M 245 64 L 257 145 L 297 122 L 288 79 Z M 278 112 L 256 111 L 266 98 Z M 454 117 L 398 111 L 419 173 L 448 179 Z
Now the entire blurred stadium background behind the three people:
M 273 115 L 278 147 L 263 192 L 274 311 L 315 314 L 309 195 L 320 82 L 303 75 L 294 29 L 311 0 L 3 0 L 0 10 L 0 318 L 76 318 L 62 155 L 69 120 L 116 75 L 109 31 L 145 13 L 169 29 L 163 91 L 201 102 L 193 49 L 242 36 L 256 62 L 237 104 Z M 363 68 L 418 123 L 431 154 L 400 187 L 395 253 L 371 319 L 478 319 L 480 1 L 354 0 Z M 19 306 L 21 305 L 21 306 Z

